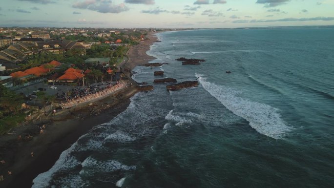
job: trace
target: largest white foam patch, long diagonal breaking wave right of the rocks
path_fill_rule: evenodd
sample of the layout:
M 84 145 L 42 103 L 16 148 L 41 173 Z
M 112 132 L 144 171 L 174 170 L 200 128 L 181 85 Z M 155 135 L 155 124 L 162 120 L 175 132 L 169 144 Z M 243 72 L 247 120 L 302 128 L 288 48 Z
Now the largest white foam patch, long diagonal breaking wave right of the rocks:
M 195 76 L 200 77 L 198 80 L 204 89 L 234 114 L 250 122 L 250 126 L 257 132 L 274 139 L 282 139 L 291 131 L 292 128 L 285 125 L 277 108 L 238 97 L 240 92 L 235 89 L 207 82 L 206 78 L 199 74 Z

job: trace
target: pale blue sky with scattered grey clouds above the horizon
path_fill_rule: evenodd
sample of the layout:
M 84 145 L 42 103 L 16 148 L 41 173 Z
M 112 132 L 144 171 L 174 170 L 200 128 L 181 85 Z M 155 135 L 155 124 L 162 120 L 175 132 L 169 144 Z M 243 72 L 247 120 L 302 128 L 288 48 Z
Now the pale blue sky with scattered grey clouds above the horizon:
M 0 26 L 334 25 L 334 0 L 1 0 Z

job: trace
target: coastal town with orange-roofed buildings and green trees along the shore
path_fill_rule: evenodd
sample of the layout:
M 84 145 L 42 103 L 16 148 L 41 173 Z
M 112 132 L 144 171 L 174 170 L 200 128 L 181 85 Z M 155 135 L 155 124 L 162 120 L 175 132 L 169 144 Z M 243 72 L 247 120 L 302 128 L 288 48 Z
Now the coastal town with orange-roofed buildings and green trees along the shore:
M 0 27 L 0 133 L 125 86 L 130 46 L 171 30 Z

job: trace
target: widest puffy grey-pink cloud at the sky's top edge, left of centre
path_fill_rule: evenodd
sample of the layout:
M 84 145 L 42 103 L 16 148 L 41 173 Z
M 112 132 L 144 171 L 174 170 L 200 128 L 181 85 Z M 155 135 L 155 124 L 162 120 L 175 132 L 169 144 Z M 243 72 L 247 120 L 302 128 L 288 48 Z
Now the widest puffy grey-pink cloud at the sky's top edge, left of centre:
M 111 3 L 111 0 L 84 0 L 74 3 L 72 7 L 93 10 L 100 13 L 121 13 L 129 10 L 124 3 L 114 5 Z

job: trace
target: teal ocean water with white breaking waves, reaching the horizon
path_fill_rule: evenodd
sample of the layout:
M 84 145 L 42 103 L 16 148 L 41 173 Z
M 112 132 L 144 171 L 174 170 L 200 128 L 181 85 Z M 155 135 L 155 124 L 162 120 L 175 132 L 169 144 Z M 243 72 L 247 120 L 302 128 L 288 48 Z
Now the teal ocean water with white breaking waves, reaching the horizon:
M 198 87 L 137 93 L 33 188 L 331 188 L 334 29 L 158 33 L 133 79 Z M 180 57 L 205 59 L 182 65 Z M 163 70 L 165 75 L 154 76 Z M 231 71 L 230 74 L 226 71 Z

